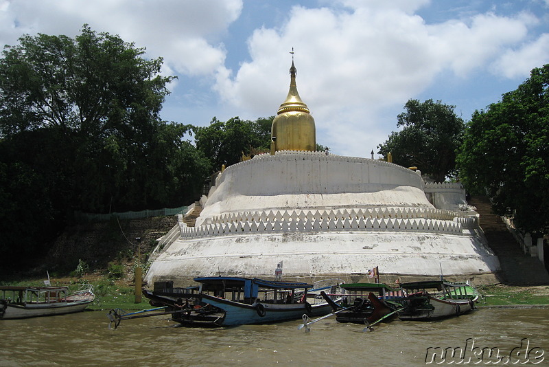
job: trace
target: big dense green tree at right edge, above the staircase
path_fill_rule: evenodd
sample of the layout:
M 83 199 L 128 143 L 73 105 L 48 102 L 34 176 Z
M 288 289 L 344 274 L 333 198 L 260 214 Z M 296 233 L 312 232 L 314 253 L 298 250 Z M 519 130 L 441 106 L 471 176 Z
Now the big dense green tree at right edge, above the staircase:
M 526 232 L 549 233 L 549 64 L 485 111 L 475 111 L 457 163 L 473 193 Z

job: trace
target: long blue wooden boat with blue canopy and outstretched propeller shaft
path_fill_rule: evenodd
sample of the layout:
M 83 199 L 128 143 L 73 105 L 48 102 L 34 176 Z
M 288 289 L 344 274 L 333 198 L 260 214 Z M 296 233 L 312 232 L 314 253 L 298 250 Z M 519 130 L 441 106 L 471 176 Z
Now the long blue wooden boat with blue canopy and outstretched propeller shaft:
M 198 288 L 144 290 L 145 297 L 157 308 L 131 314 L 111 310 L 110 325 L 114 323 L 116 327 L 121 320 L 148 315 L 171 315 L 172 320 L 183 326 L 265 324 L 299 319 L 304 313 L 319 316 L 331 311 L 322 296 L 308 293 L 313 285 L 303 282 L 230 276 L 194 280 L 200 283 Z

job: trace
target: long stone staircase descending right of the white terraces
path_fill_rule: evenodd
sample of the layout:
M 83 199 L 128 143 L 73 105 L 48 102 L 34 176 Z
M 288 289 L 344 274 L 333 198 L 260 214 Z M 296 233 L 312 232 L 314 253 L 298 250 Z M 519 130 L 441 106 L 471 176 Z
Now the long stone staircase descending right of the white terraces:
M 487 197 L 472 197 L 469 204 L 480 214 L 480 227 L 489 247 L 500 259 L 502 282 L 508 285 L 548 285 L 549 274 L 538 258 L 524 254 L 501 217 L 493 214 Z

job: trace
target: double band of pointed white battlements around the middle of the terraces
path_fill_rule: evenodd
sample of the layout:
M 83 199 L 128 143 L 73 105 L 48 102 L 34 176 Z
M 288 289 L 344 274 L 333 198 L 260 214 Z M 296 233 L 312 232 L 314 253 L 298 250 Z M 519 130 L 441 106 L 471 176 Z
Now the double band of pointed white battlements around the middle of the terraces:
M 474 216 L 433 208 L 268 210 L 214 216 L 204 225 L 182 225 L 182 238 L 277 232 L 390 231 L 464 234 L 478 227 Z

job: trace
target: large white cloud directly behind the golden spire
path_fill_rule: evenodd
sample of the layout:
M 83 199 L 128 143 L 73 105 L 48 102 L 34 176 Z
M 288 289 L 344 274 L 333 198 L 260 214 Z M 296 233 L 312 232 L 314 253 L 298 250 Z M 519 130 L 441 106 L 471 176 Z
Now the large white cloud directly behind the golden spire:
M 425 1 L 404 10 L 379 1 L 342 3 L 352 10 L 295 6 L 280 28 L 255 30 L 248 39 L 252 60 L 235 75 L 219 74 L 216 90 L 241 117 L 276 113 L 273 101 L 286 96 L 288 52 L 295 47 L 297 85 L 316 120 L 318 142 L 364 156 L 396 129 L 388 107 L 404 106 L 441 71 L 467 78 L 485 69 L 502 49 L 521 42 L 533 22 L 487 13 L 428 25 L 413 14 Z

